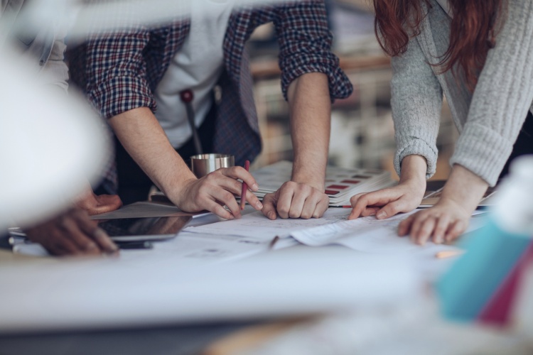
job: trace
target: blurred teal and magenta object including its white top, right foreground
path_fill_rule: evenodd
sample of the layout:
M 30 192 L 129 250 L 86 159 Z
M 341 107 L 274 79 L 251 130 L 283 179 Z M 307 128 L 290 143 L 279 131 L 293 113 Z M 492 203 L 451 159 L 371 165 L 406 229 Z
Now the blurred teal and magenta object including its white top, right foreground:
M 497 196 L 488 224 L 468 236 L 466 253 L 436 285 L 448 319 L 510 321 L 522 274 L 533 261 L 532 155 L 513 162 Z

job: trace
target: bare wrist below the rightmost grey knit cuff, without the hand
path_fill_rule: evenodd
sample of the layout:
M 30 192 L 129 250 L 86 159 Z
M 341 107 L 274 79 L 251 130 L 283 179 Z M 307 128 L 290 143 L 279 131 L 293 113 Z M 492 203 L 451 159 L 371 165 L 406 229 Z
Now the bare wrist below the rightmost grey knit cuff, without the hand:
M 488 182 L 462 165 L 455 164 L 444 185 L 442 200 L 452 200 L 471 213 L 488 188 Z

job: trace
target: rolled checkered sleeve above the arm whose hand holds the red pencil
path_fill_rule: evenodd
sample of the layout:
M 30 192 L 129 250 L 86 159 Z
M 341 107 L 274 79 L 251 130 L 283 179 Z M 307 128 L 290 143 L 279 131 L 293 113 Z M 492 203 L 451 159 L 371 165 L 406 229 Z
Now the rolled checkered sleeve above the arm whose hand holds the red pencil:
M 86 91 L 102 117 L 109 119 L 138 107 L 156 109 L 143 57 L 148 41 L 148 29 L 139 26 L 87 42 Z

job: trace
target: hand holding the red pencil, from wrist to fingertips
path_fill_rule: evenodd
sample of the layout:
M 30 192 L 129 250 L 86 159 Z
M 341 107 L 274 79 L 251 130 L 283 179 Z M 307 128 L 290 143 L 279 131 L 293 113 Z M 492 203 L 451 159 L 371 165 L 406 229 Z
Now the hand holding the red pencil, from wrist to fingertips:
M 176 206 L 186 212 L 200 212 L 207 209 L 217 216 L 225 219 L 241 217 L 241 209 L 235 195 L 242 193 L 242 182 L 248 185 L 253 191 L 257 191 L 259 186 L 252 174 L 241 166 L 232 168 L 220 168 L 200 179 L 190 179 L 185 181 L 180 190 L 166 195 Z M 251 191 L 246 191 L 247 202 L 254 209 L 262 209 L 263 204 Z M 227 211 L 223 206 L 227 206 Z

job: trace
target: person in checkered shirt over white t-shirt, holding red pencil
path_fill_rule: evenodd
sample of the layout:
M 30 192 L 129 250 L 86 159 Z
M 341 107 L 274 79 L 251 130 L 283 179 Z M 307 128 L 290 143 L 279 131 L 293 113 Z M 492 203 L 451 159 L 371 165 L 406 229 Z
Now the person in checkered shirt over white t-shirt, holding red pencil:
M 239 165 L 261 150 L 245 44 L 255 28 L 272 21 L 279 40 L 281 89 L 290 107 L 294 169 L 291 181 L 266 195 L 263 204 L 250 191 L 247 202 L 270 219 L 276 219 L 276 212 L 281 218 L 321 217 L 328 208 L 324 180 L 330 104 L 352 92 L 330 52 L 323 1 L 237 7 L 233 1 L 202 0 L 190 6 L 186 18 L 100 35 L 70 56 L 72 77 L 118 138 L 119 196 L 126 204 L 146 200 L 154 182 L 184 211 L 207 209 L 226 219 L 240 217 L 237 179 L 252 190 L 258 187 Z M 220 102 L 211 94 L 215 86 Z M 200 179 L 190 172 L 183 158 L 195 151 L 180 99 L 184 89 L 194 94 L 203 151 L 235 155 L 236 167 Z

